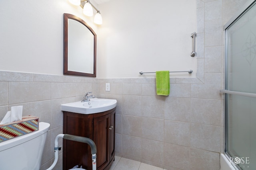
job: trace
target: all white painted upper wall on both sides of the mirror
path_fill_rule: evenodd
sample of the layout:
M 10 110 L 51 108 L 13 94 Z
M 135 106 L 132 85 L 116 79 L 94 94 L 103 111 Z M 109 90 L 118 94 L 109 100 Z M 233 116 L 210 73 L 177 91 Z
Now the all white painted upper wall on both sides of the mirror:
M 196 0 L 111 0 L 97 8 L 100 27 L 68 0 L 1 0 L 0 70 L 62 75 L 63 13 L 70 13 L 97 34 L 98 78 L 142 77 L 138 72 L 156 70 L 192 69 L 192 75 L 172 76 L 196 75 L 196 57 L 189 56 Z

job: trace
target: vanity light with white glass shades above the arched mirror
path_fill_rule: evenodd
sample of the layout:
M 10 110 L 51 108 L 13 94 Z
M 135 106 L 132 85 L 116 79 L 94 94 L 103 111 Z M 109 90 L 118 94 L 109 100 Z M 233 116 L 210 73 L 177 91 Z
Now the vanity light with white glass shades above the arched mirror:
M 83 8 L 84 15 L 86 16 L 93 16 L 92 8 L 94 8 L 94 10 L 97 11 L 97 13 L 94 16 L 94 23 L 98 25 L 102 24 L 102 16 L 100 14 L 100 11 L 97 10 L 97 8 L 95 8 L 95 6 L 93 6 L 89 0 L 68 0 L 68 1 L 73 5 L 76 5 L 76 6 L 80 5 L 81 8 Z M 84 6 L 81 4 L 81 2 L 85 2 Z

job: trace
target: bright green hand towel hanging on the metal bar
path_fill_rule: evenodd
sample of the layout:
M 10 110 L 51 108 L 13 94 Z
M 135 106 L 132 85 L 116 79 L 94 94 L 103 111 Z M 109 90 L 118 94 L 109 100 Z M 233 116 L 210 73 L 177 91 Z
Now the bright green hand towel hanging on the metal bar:
M 156 71 L 156 94 L 168 96 L 170 94 L 169 71 Z

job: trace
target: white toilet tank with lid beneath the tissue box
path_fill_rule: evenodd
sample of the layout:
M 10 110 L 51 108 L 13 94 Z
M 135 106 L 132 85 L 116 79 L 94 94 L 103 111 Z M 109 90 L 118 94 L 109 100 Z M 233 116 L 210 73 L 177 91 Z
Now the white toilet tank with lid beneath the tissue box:
M 39 123 L 38 131 L 0 143 L 1 170 L 39 170 L 50 124 Z

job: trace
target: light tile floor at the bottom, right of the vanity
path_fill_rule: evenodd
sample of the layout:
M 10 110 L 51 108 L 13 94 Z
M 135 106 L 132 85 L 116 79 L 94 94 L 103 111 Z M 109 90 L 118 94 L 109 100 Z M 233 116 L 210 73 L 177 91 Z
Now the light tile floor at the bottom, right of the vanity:
M 109 170 L 164 170 L 156 166 L 144 164 L 136 160 L 130 160 L 127 158 L 121 158 L 115 156 L 115 161 L 110 166 Z

